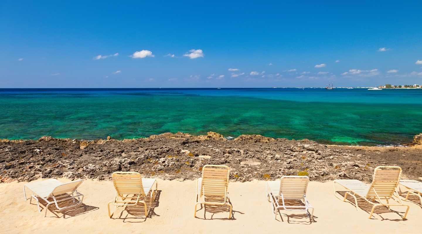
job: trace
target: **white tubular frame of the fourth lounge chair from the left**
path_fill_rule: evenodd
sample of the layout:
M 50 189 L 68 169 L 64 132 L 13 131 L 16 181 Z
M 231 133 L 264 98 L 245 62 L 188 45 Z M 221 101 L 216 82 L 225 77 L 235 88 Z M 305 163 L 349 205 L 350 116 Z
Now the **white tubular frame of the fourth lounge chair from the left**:
M 303 197 L 300 199 L 287 199 L 287 200 L 299 200 L 300 202 L 303 202 L 303 204 L 305 204 L 304 206 L 298 206 L 298 205 L 293 205 L 293 206 L 289 206 L 289 205 L 285 205 L 284 203 L 284 195 L 281 192 L 281 182 L 284 178 L 306 178 L 307 182 L 306 182 L 306 189 L 305 192 L 303 193 Z M 268 183 L 266 183 L 265 185 L 265 189 L 267 191 L 267 198 L 268 198 L 268 202 L 271 202 L 272 205 L 272 211 L 274 213 L 274 218 L 277 219 L 277 213 L 280 213 L 280 208 L 283 208 L 284 210 L 287 211 L 305 211 L 306 215 L 308 215 L 308 217 L 312 220 L 312 217 L 314 217 L 314 207 L 312 207 L 312 205 L 309 203 L 308 199 L 306 198 L 306 191 L 308 190 L 308 184 L 309 184 L 309 177 L 308 176 L 282 176 L 280 179 L 280 189 L 279 189 L 279 195 L 273 194 L 273 191 L 271 190 L 270 186 L 268 186 Z M 281 200 L 281 205 L 279 204 Z M 303 209 L 290 209 L 290 208 L 303 208 Z M 311 208 L 312 209 L 312 213 L 308 212 L 308 209 Z M 309 215 L 310 214 L 310 215 Z

